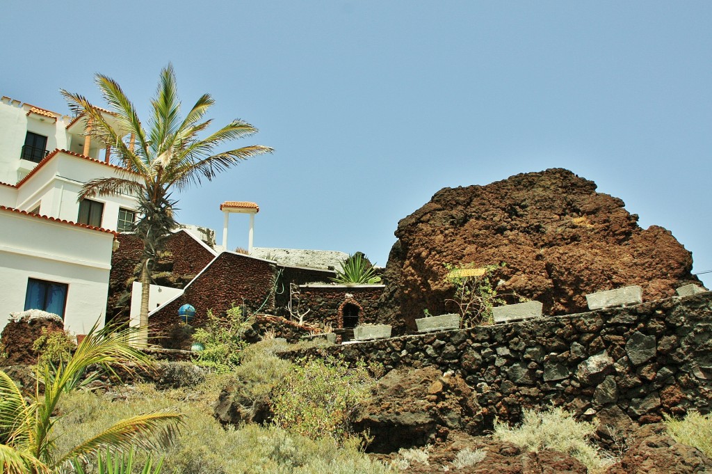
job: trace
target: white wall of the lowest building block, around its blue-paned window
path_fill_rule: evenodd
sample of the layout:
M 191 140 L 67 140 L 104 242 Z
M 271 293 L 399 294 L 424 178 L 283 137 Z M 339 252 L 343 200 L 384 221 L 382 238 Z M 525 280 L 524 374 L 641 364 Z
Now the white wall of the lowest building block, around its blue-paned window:
M 28 278 L 68 284 L 65 328 L 103 326 L 114 236 L 0 210 L 0 331 L 23 311 Z

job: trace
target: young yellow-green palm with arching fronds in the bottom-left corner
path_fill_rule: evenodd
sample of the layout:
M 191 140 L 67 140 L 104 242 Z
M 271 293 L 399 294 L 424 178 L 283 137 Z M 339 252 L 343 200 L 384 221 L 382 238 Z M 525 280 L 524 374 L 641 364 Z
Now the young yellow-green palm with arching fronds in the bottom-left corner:
M 150 366 L 150 358 L 132 347 L 136 329 L 94 326 L 77 346 L 73 356 L 56 366 L 39 364 L 35 394 L 27 401 L 19 388 L 0 371 L 0 464 L 4 474 L 53 473 L 71 460 L 95 455 L 108 448 L 129 450 L 157 448 L 172 443 L 182 415 L 163 409 L 118 421 L 107 430 L 85 440 L 66 453 L 56 449 L 53 427 L 58 420 L 55 409 L 61 396 L 80 381 L 79 374 L 96 364 L 112 375 L 115 369 L 131 371 L 130 364 Z M 59 415 L 61 416 L 61 415 Z

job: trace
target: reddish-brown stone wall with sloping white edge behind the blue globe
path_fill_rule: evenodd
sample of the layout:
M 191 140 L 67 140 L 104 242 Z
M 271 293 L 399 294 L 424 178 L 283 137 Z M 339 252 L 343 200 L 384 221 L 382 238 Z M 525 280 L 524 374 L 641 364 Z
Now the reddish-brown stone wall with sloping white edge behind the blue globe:
M 224 313 L 231 307 L 245 305 L 248 311 L 268 312 L 274 308 L 273 287 L 276 267 L 263 259 L 223 252 L 206 267 L 184 293 L 150 316 L 153 335 L 167 334 L 178 323 L 178 309 L 192 304 L 196 309 L 192 326 L 204 325 L 207 311 Z M 160 341 L 157 341 L 161 344 Z

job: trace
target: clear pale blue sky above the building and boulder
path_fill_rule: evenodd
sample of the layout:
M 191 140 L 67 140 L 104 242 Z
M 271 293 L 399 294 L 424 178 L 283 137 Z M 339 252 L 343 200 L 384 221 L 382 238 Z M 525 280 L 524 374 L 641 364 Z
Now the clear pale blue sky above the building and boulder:
M 236 145 L 276 153 L 180 196 L 184 222 L 219 231 L 221 202 L 254 201 L 257 246 L 385 264 L 398 220 L 441 187 L 561 167 L 712 270 L 711 2 L 10 0 L 2 13 L 2 95 L 64 112 L 58 90 L 98 101 L 100 72 L 145 110 L 172 62 L 186 106 L 209 92 L 216 123 L 260 129 Z M 247 222 L 231 217 L 231 247 Z

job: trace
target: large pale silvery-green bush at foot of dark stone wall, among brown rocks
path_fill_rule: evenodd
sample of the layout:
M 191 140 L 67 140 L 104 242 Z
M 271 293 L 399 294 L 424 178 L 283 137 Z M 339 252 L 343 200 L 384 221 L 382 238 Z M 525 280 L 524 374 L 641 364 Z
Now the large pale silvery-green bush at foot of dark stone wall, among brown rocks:
M 496 422 L 494 436 L 530 451 L 546 448 L 566 453 L 584 463 L 588 470 L 595 471 L 612 464 L 590 441 L 595 429 L 593 423 L 576 421 L 560 407 L 541 412 L 525 409 L 520 426 L 510 428 Z

